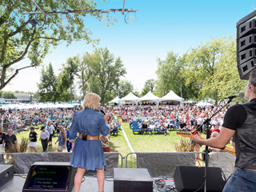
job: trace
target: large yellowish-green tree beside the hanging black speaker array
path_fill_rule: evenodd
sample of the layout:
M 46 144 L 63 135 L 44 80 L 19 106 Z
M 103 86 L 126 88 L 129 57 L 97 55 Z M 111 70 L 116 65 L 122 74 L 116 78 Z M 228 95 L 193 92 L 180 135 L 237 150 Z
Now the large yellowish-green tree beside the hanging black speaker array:
M 236 68 L 236 42 L 234 38 L 211 38 L 205 45 L 192 48 L 186 58 L 186 71 L 182 74 L 186 85 L 198 86 L 198 99 L 212 98 L 218 102 L 226 94 L 244 89 Z

